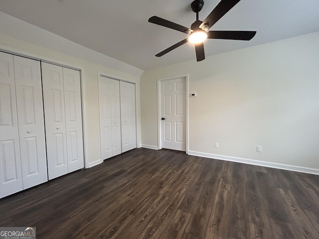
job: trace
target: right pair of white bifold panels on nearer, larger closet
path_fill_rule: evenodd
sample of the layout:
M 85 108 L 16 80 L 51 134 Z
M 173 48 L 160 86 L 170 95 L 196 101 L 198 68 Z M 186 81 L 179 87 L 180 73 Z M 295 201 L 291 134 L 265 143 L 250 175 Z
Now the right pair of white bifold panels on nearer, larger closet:
M 48 176 L 84 167 L 81 83 L 77 70 L 42 63 Z

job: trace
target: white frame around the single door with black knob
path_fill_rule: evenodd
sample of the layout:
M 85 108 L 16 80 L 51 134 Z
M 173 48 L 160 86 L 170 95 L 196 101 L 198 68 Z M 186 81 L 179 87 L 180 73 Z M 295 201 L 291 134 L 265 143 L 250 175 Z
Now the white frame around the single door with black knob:
M 165 78 L 159 78 L 158 79 L 158 149 L 162 149 L 162 146 L 161 146 L 161 94 L 160 94 L 160 86 L 161 86 L 161 83 L 164 82 L 164 81 L 169 81 L 169 80 L 174 80 L 174 79 L 177 79 L 177 78 L 184 78 L 185 79 L 185 86 L 186 86 L 186 89 L 185 89 L 185 105 L 186 105 L 186 116 L 185 116 L 185 130 L 186 130 L 186 154 L 188 154 L 188 74 L 183 74 L 183 75 L 178 75 L 178 76 L 170 76 L 170 77 L 165 77 Z

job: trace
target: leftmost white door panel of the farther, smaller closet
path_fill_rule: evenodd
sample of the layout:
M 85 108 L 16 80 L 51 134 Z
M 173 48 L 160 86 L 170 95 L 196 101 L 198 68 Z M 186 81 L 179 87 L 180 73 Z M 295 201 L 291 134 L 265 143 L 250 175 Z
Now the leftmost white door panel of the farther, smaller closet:
M 112 157 L 111 79 L 99 79 L 100 137 L 102 160 Z

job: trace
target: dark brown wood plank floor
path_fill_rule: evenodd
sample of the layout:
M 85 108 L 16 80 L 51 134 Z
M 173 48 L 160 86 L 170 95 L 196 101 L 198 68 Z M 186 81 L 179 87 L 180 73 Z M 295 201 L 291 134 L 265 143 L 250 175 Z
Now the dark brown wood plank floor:
M 37 239 L 319 239 L 319 176 L 134 149 L 0 200 Z

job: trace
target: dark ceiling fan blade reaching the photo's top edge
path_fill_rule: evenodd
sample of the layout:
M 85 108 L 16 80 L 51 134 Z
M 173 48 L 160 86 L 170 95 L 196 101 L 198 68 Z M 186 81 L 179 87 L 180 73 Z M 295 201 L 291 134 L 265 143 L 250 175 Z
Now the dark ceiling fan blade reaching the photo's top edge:
M 221 0 L 199 27 L 207 31 L 239 1 L 240 0 Z

